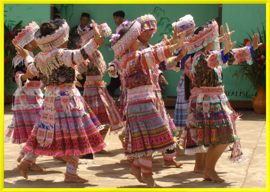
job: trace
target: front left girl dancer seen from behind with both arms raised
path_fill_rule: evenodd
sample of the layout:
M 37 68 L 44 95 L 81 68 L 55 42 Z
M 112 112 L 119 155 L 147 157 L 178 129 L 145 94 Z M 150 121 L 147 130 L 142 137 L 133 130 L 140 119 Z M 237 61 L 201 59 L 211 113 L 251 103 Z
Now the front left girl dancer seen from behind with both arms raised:
M 26 58 L 27 73 L 39 76 L 45 86 L 45 99 L 32 133 L 24 149 L 28 152 L 17 165 L 27 178 L 27 171 L 38 155 L 63 156 L 67 162 L 65 182 L 88 182 L 77 174 L 79 155 L 93 153 L 106 147 L 99 128 L 102 127 L 91 109 L 85 105 L 75 87 L 77 66 L 85 64 L 102 42 L 100 29 L 92 21 L 95 38 L 81 49 L 66 50 L 69 25 L 65 20 L 43 22 L 35 33 L 42 50 L 35 63 L 28 52 L 16 46 Z

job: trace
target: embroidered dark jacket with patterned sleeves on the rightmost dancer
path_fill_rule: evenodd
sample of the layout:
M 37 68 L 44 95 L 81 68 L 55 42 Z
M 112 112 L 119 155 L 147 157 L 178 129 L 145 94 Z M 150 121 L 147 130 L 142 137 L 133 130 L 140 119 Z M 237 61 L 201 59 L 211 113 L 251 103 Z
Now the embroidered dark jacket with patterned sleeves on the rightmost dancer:
M 222 68 L 247 61 L 252 64 L 253 47 L 232 49 L 225 56 L 223 50 L 212 51 L 208 55 L 200 50 L 185 63 L 185 74 L 189 77 L 189 87 L 222 85 Z

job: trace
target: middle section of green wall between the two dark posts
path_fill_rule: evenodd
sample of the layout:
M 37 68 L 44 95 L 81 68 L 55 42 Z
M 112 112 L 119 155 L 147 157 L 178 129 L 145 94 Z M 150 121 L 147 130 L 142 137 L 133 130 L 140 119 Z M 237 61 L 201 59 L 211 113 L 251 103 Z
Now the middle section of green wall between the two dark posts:
M 130 21 L 150 13 L 155 16 L 158 22 L 157 33 L 153 36 L 150 44 L 159 43 L 164 33 L 169 37 L 172 31 L 171 23 L 186 14 L 191 14 L 198 26 L 218 16 L 217 4 L 55 4 L 55 6 L 58 8 L 61 16 L 68 21 L 70 27 L 79 24 L 81 13 L 87 12 L 91 15 L 90 19 L 95 20 L 97 23 L 107 22 L 112 31 L 115 31 L 117 27 L 112 17 L 115 11 L 124 11 L 124 20 Z M 100 48 L 107 64 L 113 60 L 113 51 L 108 50 L 107 47 L 108 39 L 106 40 L 107 44 L 105 43 Z M 164 76 L 169 83 L 165 95 L 177 96 L 176 86 L 180 80 L 181 73 L 171 70 L 164 72 Z M 110 78 L 107 74 L 103 79 L 108 85 Z M 117 94 L 119 91 L 115 93 Z

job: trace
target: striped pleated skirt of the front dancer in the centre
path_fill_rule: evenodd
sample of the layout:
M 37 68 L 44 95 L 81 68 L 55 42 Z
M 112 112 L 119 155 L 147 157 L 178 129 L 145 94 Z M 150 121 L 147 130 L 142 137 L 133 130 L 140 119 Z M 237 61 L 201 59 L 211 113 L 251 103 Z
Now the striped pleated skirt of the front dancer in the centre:
M 176 146 L 170 130 L 151 100 L 128 105 L 126 128 L 127 156 L 150 156 Z

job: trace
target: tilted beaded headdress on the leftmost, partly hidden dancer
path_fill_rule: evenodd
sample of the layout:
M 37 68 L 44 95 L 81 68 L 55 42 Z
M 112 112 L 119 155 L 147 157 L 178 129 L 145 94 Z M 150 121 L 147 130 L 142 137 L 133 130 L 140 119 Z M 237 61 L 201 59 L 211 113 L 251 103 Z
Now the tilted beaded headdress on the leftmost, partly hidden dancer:
M 21 32 L 19 32 L 14 37 L 14 39 L 12 40 L 13 45 L 20 45 L 21 47 L 24 47 L 25 45 L 34 40 L 35 32 L 38 29 L 39 26 L 35 21 L 30 22 L 25 28 L 22 29 Z

